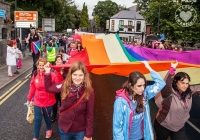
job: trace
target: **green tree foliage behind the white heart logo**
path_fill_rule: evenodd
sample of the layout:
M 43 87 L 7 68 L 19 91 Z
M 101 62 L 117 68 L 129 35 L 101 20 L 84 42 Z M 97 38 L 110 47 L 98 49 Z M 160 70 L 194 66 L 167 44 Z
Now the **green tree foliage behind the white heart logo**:
M 144 16 L 148 24 L 153 26 L 153 31 L 157 34 L 158 29 L 158 13 L 159 13 L 159 0 L 134 0 L 137 2 L 140 14 Z M 200 19 L 190 27 L 182 27 L 175 20 L 176 10 L 184 5 L 184 3 L 176 3 L 172 1 L 162 1 L 160 10 L 160 32 L 164 32 L 166 37 L 171 40 L 187 40 L 194 43 L 200 42 Z M 200 1 L 192 5 L 200 14 Z M 159 32 L 159 33 L 160 33 Z

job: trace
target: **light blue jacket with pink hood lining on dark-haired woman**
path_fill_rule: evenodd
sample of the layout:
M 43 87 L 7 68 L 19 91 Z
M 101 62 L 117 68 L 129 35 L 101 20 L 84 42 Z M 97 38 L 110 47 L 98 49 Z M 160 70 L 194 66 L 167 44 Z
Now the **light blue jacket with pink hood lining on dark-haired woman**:
M 153 129 L 150 118 L 150 108 L 148 100 L 153 98 L 160 90 L 165 86 L 165 82 L 162 77 L 155 71 L 150 72 L 152 79 L 154 81 L 153 85 L 147 86 L 144 90 L 144 128 L 142 124 L 142 131 L 144 132 L 145 140 L 153 140 Z M 134 115 L 134 110 L 130 105 L 130 98 L 126 96 L 126 91 L 120 89 L 116 92 L 116 100 L 114 103 L 114 113 L 113 113 L 113 140 L 129 140 L 132 117 Z

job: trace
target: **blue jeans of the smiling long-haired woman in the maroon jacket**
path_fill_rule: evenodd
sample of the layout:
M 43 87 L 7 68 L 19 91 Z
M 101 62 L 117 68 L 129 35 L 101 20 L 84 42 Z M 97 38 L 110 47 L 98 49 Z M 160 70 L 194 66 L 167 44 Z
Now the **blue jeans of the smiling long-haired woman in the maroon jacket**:
M 65 133 L 60 126 L 58 126 L 58 130 L 60 133 L 60 139 L 61 140 L 83 140 L 85 131 L 77 132 L 77 133 L 71 133 L 67 132 Z

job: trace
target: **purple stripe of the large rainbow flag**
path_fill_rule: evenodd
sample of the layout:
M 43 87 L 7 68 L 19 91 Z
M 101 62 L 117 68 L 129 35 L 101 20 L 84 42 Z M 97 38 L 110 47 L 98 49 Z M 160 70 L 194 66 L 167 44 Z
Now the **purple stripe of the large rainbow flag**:
M 157 50 L 145 47 L 131 47 L 135 53 L 148 60 L 168 61 L 177 60 L 178 62 L 200 65 L 200 51 L 176 52 L 173 50 Z

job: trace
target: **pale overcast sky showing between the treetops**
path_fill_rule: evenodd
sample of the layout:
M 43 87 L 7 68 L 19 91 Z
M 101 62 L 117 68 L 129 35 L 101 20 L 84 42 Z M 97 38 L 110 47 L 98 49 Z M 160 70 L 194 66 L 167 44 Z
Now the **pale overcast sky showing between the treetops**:
M 92 18 L 92 11 L 94 9 L 94 6 L 97 5 L 98 1 L 104 1 L 104 0 L 75 0 L 75 4 L 78 5 L 78 9 L 82 10 L 83 8 L 83 3 L 88 7 L 88 14 L 89 18 Z M 131 7 L 133 6 L 133 0 L 112 0 L 113 2 L 116 2 L 118 5 Z

